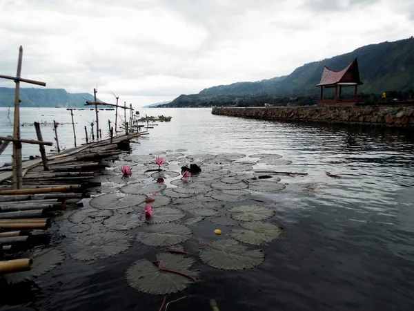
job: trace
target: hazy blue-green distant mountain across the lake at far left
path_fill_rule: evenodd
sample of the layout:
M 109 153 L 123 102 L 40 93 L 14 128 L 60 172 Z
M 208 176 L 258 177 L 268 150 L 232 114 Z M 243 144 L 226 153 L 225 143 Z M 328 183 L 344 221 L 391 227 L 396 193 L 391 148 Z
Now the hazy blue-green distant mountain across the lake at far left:
M 68 93 L 63 88 L 20 88 L 21 107 L 83 107 L 94 100 L 89 93 Z M 0 87 L 0 107 L 14 105 L 14 88 Z

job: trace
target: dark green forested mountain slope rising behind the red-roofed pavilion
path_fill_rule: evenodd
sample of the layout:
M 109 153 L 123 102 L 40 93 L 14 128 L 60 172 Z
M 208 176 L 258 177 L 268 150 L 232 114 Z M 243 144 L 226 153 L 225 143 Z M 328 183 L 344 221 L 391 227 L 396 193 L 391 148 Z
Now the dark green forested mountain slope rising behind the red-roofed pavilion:
M 250 106 L 265 102 L 286 103 L 297 97 L 307 97 L 301 104 L 315 104 L 314 99 L 319 93 L 315 85 L 319 83 L 324 66 L 342 70 L 355 58 L 364 82 L 359 87 L 360 92 L 380 94 L 414 89 L 414 38 L 411 37 L 363 46 L 351 53 L 305 64 L 283 77 L 213 86 L 198 94 L 180 95 L 166 106 Z

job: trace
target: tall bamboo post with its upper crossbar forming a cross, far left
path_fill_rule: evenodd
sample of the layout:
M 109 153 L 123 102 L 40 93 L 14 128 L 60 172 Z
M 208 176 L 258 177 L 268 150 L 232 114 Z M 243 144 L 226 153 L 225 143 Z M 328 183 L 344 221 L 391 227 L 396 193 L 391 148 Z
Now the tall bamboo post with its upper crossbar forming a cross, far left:
M 45 82 L 34 81 L 30 79 L 23 79 L 21 75 L 21 62 L 23 59 L 23 47 L 19 48 L 19 60 L 17 62 L 17 74 L 16 77 L 9 75 L 0 75 L 0 78 L 10 79 L 16 82 L 16 90 L 14 93 L 14 128 L 13 128 L 13 187 L 14 189 L 21 189 L 23 184 L 23 178 L 21 173 L 21 143 L 24 142 L 20 139 L 20 82 L 26 82 L 29 84 L 36 84 L 40 86 L 46 86 Z M 33 143 L 33 142 L 32 142 Z M 35 142 L 37 144 L 45 144 L 45 142 Z

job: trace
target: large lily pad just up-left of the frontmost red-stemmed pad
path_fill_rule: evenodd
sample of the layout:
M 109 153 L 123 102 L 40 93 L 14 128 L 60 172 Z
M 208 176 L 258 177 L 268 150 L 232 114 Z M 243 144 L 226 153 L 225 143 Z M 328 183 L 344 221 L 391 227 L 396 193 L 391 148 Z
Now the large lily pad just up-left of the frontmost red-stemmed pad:
M 70 256 L 79 261 L 106 258 L 124 252 L 132 245 L 131 236 L 122 232 L 100 232 L 77 238 L 68 247 Z

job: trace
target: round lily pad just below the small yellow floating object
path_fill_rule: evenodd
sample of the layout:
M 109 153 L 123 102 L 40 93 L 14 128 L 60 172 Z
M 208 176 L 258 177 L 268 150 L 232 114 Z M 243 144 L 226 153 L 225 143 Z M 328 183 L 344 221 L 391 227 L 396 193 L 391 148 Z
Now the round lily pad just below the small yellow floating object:
M 250 269 L 264 261 L 261 249 L 249 250 L 230 239 L 214 241 L 199 254 L 206 265 L 224 270 Z

